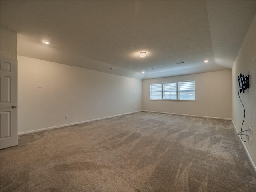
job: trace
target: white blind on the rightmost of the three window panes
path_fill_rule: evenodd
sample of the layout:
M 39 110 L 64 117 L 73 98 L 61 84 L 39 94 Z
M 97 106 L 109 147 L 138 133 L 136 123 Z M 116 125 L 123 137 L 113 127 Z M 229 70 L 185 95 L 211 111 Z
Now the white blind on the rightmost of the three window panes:
M 179 82 L 179 94 L 180 100 L 194 100 L 195 99 L 195 82 Z

